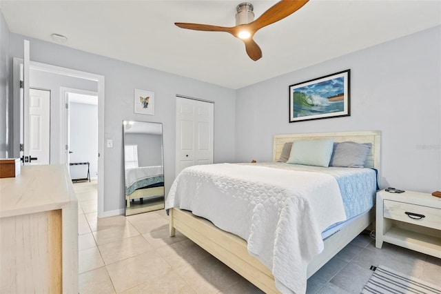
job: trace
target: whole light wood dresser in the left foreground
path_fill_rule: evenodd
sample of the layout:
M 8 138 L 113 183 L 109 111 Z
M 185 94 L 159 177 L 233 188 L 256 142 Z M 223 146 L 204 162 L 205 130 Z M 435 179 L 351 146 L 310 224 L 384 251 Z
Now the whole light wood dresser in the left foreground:
M 78 202 L 64 165 L 0 179 L 0 293 L 78 293 Z

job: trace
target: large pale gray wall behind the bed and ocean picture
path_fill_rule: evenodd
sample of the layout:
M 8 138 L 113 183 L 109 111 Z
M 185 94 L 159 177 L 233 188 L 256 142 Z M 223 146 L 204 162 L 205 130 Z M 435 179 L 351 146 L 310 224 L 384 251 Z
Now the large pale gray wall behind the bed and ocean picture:
M 441 189 L 441 27 L 236 92 L 236 160 L 270 161 L 272 136 L 381 130 L 382 188 Z M 288 88 L 351 69 L 351 116 L 289 124 Z

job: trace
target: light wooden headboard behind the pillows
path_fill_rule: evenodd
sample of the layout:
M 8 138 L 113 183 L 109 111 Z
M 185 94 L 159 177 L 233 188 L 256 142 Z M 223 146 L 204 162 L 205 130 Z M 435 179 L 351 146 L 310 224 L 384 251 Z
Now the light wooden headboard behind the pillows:
M 353 141 L 357 143 L 371 143 L 372 148 L 367 155 L 365 167 L 380 168 L 380 130 L 362 130 L 359 132 L 334 132 L 334 133 L 310 133 L 274 135 L 273 161 L 277 161 L 282 154 L 283 146 L 294 140 L 330 139 L 334 142 Z

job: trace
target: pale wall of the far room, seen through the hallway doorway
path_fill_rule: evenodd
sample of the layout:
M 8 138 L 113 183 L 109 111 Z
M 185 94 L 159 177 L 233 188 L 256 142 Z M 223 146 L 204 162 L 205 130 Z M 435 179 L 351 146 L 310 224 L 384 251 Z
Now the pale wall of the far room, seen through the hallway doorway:
M 98 106 L 70 102 L 70 162 L 90 163 L 90 177 L 98 173 Z M 72 179 L 85 177 L 87 166 L 70 166 Z

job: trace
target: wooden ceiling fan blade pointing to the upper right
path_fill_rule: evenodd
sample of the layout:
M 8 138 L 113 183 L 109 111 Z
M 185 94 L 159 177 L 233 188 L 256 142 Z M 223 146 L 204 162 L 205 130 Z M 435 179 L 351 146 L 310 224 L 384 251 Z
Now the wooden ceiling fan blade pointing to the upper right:
M 262 15 L 252 23 L 249 23 L 249 26 L 254 30 L 260 30 L 265 26 L 270 25 L 271 23 L 275 23 L 276 21 L 280 21 L 280 19 L 284 19 L 290 14 L 293 14 L 302 6 L 304 6 L 309 0 L 282 0 L 276 3 L 274 6 L 271 6 L 267 11 L 263 12 Z

